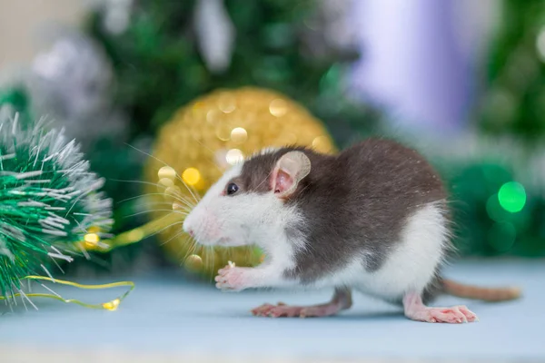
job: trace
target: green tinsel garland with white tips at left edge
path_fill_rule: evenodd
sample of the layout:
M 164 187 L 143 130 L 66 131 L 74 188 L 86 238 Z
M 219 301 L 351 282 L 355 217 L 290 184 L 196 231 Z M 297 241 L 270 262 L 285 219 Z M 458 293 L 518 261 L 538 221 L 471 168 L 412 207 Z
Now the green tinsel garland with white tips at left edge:
M 79 146 L 43 121 L 23 127 L 0 109 L 0 296 L 21 293 L 27 275 L 51 276 L 56 260 L 84 254 L 84 235 L 106 237 L 112 201 L 98 190 Z

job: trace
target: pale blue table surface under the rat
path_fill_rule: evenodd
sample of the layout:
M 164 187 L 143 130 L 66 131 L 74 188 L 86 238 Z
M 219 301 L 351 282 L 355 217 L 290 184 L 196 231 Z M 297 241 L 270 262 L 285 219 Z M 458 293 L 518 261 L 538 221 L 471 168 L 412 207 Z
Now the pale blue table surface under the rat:
M 544 260 L 464 260 L 449 267 L 445 275 L 485 286 L 520 286 L 523 297 L 493 304 L 446 296 L 436 301 L 437 306 L 465 304 L 480 318 L 478 323 L 462 325 L 414 322 L 405 319 L 400 309 L 357 293 L 352 309 L 336 317 L 268 319 L 255 318 L 249 310 L 263 302 L 315 304 L 330 299 L 332 290 L 222 293 L 212 285 L 183 280 L 179 271 L 163 271 L 134 277 L 136 289 L 116 311 L 45 299 L 35 299 L 37 311 L 25 310 L 21 304 L 13 312 L 1 308 L 0 357 L 10 349 L 13 355 L 5 353 L 6 357 L 15 357 L 16 351 L 43 348 L 52 357 L 60 351 L 116 350 L 143 357 L 170 353 L 217 359 L 252 356 L 252 361 L 545 361 Z M 79 282 L 114 280 L 118 279 Z M 61 286 L 54 290 L 65 298 L 94 302 L 114 299 L 123 291 L 79 291 Z

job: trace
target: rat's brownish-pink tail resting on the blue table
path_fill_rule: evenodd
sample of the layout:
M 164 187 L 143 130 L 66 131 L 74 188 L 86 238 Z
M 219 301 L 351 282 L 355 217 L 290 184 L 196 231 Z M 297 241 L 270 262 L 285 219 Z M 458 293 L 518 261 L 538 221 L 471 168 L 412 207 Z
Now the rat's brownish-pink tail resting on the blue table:
M 448 295 L 464 299 L 507 301 L 520 298 L 520 289 L 518 288 L 481 288 L 447 279 L 442 279 L 442 289 Z

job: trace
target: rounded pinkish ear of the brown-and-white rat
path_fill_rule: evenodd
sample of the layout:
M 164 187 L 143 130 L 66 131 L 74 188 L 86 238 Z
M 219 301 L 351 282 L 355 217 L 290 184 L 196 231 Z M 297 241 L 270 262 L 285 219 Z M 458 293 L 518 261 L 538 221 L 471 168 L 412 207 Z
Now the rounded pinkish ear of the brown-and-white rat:
M 311 161 L 304 152 L 287 152 L 272 171 L 272 190 L 281 198 L 289 196 L 309 172 Z

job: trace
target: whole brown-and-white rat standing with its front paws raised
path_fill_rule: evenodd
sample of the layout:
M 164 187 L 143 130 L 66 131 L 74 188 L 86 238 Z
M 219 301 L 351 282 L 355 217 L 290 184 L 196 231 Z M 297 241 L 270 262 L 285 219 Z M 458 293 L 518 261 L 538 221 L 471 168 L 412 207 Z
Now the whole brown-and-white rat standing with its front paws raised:
M 336 154 L 302 146 L 264 149 L 225 172 L 183 221 L 205 246 L 257 244 L 257 267 L 218 271 L 224 291 L 332 288 L 327 303 L 263 304 L 253 315 L 324 317 L 349 309 L 352 290 L 398 304 L 408 319 L 478 320 L 466 306 L 429 306 L 441 293 L 517 299 L 519 289 L 441 276 L 454 250 L 449 195 L 430 162 L 399 142 L 370 138 Z

